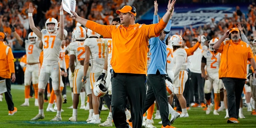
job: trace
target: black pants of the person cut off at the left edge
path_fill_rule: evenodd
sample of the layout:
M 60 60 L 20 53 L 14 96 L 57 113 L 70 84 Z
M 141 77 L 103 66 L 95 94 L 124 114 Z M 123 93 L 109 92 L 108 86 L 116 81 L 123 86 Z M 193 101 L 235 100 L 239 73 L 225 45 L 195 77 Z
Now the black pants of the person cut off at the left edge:
M 0 80 L 4 80 L 4 78 L 0 77 Z M 11 79 L 5 79 L 5 83 L 6 83 L 6 90 L 7 92 L 4 92 L 4 97 L 8 106 L 8 110 L 9 111 L 13 111 L 14 110 L 14 104 L 12 102 L 12 94 L 11 94 Z

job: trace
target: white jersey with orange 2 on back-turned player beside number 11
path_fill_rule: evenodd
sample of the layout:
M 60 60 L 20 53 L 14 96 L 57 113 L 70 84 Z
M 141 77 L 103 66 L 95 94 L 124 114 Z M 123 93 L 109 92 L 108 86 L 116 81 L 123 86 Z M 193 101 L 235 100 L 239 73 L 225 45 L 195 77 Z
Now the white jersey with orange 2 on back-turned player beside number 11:
M 84 48 L 84 42 L 80 42 L 80 41 L 75 41 L 75 42 L 71 42 L 69 44 L 69 50 L 70 50 L 70 55 L 75 55 L 76 56 L 76 60 L 75 60 L 75 66 L 76 69 L 79 68 L 84 68 L 84 66 L 82 66 L 80 64 L 80 60 L 84 60 L 85 57 L 85 48 Z

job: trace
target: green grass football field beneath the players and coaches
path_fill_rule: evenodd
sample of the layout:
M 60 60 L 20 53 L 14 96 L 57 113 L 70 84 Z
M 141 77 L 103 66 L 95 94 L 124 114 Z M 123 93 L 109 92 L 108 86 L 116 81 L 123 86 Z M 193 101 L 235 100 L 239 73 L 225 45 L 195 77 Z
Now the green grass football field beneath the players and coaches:
M 68 109 L 72 105 L 69 87 L 67 88 L 67 96 L 67 104 L 62 104 L 64 112 L 61 113 L 61 122 L 50 121 L 54 118 L 56 112 L 46 112 L 48 103 L 44 103 L 45 118 L 43 120 L 30 121 L 31 118 L 38 114 L 38 107 L 34 106 L 34 98 L 30 98 L 29 107 L 21 107 L 20 105 L 24 102 L 24 86 L 12 85 L 12 98 L 14 106 L 18 108 L 18 112 L 14 116 L 8 116 L 5 99 L 0 102 L 0 128 L 98 128 L 98 124 L 86 124 L 88 110 L 78 109 L 78 122 L 68 121 L 68 118 L 72 116 L 72 109 Z M 80 107 L 80 104 L 78 107 Z M 225 111 L 219 112 L 220 115 L 216 116 L 212 112 L 206 115 L 202 108 L 191 108 L 191 110 L 188 110 L 188 118 L 177 118 L 172 126 L 176 128 L 256 128 L 256 116 L 252 116 L 250 112 L 247 112 L 247 108 L 243 110 L 245 119 L 238 119 L 240 121 L 239 124 L 227 124 L 226 119 L 224 119 Z M 106 120 L 108 112 L 108 110 L 101 112 L 101 122 Z M 154 120 L 154 126 L 161 128 L 158 122 L 160 120 Z M 114 123 L 113 127 L 109 128 L 115 128 Z

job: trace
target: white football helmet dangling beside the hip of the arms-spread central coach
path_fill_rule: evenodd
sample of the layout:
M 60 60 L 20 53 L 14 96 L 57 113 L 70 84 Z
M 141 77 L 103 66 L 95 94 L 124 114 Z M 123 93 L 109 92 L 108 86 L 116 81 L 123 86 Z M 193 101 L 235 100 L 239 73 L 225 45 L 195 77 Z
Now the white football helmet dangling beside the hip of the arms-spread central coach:
M 93 87 L 93 93 L 97 97 L 103 97 L 108 92 L 108 87 L 106 86 L 106 80 L 98 80 Z

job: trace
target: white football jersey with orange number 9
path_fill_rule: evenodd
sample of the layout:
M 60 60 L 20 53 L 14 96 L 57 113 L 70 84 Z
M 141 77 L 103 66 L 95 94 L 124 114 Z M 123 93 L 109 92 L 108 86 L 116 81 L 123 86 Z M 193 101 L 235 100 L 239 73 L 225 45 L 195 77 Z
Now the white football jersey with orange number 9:
M 31 44 L 28 40 L 25 40 L 25 49 L 27 55 L 27 63 L 38 63 L 41 49 L 39 48 L 40 40 Z

